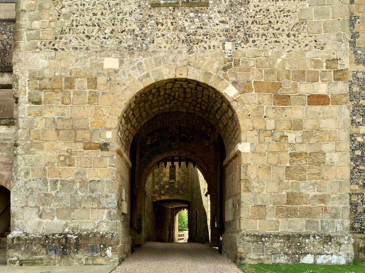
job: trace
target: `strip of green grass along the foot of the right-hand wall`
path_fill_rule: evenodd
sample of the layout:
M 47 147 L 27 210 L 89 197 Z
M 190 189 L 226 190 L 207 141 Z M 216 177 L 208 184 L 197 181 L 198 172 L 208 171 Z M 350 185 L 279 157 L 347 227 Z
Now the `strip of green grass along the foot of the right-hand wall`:
M 354 260 L 353 265 L 246 265 L 238 264 L 248 273 L 364 273 L 365 261 Z

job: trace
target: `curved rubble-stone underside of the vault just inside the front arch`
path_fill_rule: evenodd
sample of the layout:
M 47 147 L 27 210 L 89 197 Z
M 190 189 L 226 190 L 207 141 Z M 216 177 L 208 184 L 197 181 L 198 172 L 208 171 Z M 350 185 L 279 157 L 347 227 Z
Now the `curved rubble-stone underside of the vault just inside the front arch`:
M 119 139 L 128 151 L 138 129 L 155 115 L 164 112 L 190 112 L 201 116 L 220 132 L 230 150 L 241 142 L 237 114 L 228 100 L 215 88 L 194 80 L 162 80 L 134 96 L 119 124 Z

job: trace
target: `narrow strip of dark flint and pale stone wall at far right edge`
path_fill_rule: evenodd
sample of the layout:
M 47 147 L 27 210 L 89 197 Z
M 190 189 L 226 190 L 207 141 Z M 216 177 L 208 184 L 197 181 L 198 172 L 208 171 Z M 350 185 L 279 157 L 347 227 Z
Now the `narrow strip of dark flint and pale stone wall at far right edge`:
M 364 20 L 363 5 L 350 1 L 350 228 L 354 235 L 355 257 L 365 257 L 364 215 Z

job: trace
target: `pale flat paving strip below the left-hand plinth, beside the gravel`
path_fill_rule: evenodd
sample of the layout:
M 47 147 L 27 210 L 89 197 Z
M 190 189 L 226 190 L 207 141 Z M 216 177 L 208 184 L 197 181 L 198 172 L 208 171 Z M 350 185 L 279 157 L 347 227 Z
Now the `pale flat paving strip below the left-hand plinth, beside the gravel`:
M 85 266 L 5 266 L 0 265 L 1 273 L 110 273 L 115 265 Z

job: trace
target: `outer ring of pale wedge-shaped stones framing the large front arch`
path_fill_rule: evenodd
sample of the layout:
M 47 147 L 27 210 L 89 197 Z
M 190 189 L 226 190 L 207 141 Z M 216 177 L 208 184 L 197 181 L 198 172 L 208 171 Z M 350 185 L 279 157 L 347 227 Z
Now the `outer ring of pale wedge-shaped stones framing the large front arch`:
M 214 94 L 219 95 L 222 100 L 230 106 L 230 111 L 228 111 L 227 108 L 225 114 L 231 115 L 232 112 L 238 125 L 237 128 L 239 127 L 240 130 L 238 130 L 238 134 L 235 135 L 235 141 L 230 142 L 230 147 L 227 147 L 227 149 L 230 149 L 230 152 L 242 149 L 241 143 L 245 143 L 247 138 L 246 131 L 253 130 L 253 120 L 250 110 L 242 96 L 240 96 L 239 91 L 230 82 L 224 79 L 223 76 L 217 74 L 217 72 L 219 72 L 219 66 L 212 64 L 210 58 L 204 58 L 202 63 L 202 66 L 198 66 L 197 64 L 159 66 L 133 78 L 126 84 L 122 85 L 119 84 L 119 82 L 116 82 L 114 85 L 118 86 L 118 88 L 116 88 L 118 92 L 110 104 L 111 107 L 108 114 L 105 116 L 104 129 L 115 131 L 115 136 L 119 135 L 120 139 L 123 116 L 126 115 L 131 103 L 134 103 L 136 95 L 141 95 L 152 86 L 164 85 L 164 83 L 167 82 L 175 80 L 190 81 L 211 88 Z M 220 130 L 223 130 L 224 125 L 219 128 Z M 122 138 L 126 137 L 126 134 L 133 135 L 136 129 L 129 126 L 124 128 L 124 130 L 126 131 L 124 131 Z M 230 130 L 233 130 L 233 128 L 230 128 Z M 115 139 L 115 136 L 113 134 L 113 137 L 111 138 Z M 128 139 L 127 142 L 130 143 L 129 137 L 126 139 Z M 241 148 L 238 148 L 237 145 Z M 128 157 L 129 153 L 127 146 L 127 143 L 122 142 L 120 147 L 122 154 L 127 155 L 126 157 Z

